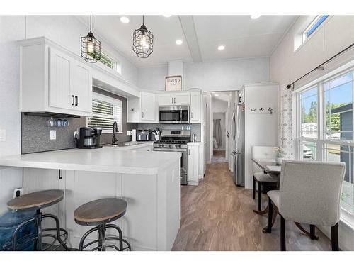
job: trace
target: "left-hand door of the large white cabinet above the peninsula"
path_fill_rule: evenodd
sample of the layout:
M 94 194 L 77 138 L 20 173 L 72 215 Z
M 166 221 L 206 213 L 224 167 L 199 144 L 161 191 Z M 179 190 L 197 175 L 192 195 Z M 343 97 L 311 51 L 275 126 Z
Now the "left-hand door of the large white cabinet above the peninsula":
M 49 106 L 73 109 L 71 58 L 50 48 Z

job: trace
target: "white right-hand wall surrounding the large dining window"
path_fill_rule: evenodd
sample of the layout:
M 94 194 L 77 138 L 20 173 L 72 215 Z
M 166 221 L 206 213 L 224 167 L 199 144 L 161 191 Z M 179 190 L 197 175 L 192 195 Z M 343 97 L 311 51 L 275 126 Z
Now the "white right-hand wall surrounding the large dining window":
M 300 16 L 295 21 L 290 31 L 288 31 L 270 57 L 270 79 L 279 82 L 280 89 L 354 43 L 354 16 L 331 16 L 312 35 L 312 38 L 309 38 L 301 48 L 294 52 L 295 35 L 304 30 L 307 19 L 307 16 Z M 330 64 L 325 65 L 324 71 L 316 71 L 306 79 L 303 79 L 298 83 L 298 86 L 306 84 L 327 72 L 331 72 L 331 70 L 344 65 L 350 60 L 354 60 L 353 49 L 333 60 Z M 321 230 L 329 235 L 326 228 Z M 354 250 L 353 228 L 341 221 L 339 235 L 340 248 Z

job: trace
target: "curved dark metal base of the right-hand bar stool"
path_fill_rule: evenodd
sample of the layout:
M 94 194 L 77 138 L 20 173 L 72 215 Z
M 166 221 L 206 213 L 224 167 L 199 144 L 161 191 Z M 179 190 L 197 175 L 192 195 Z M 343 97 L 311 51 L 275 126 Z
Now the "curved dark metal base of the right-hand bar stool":
M 117 236 L 105 236 L 105 231 L 107 228 L 114 228 L 116 231 L 118 231 L 118 237 Z M 97 240 L 93 240 L 90 243 L 87 243 L 86 245 L 84 245 L 84 242 L 86 240 L 86 238 L 93 232 L 98 231 L 98 239 Z M 112 244 L 107 244 L 105 243 L 105 240 L 118 240 L 119 241 L 119 247 L 116 245 L 112 245 Z M 80 240 L 80 244 L 79 244 L 79 250 L 83 251 L 85 248 L 89 247 L 90 245 L 93 245 L 97 243 L 98 245 L 89 250 L 89 251 L 105 251 L 106 248 L 113 248 L 117 251 L 124 251 L 124 250 L 132 250 L 132 248 L 130 247 L 130 243 L 127 242 L 127 240 L 123 239 L 122 237 L 122 230 L 118 227 L 115 226 L 114 224 L 102 224 L 99 226 L 95 226 L 93 228 L 91 228 L 89 231 L 87 231 L 81 238 Z

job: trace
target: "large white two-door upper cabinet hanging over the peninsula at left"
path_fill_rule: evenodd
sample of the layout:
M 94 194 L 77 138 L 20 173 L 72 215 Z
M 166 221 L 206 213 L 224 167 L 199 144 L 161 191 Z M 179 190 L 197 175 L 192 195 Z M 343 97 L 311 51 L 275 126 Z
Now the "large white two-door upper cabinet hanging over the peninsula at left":
M 21 112 L 92 114 L 91 68 L 45 38 L 21 45 Z

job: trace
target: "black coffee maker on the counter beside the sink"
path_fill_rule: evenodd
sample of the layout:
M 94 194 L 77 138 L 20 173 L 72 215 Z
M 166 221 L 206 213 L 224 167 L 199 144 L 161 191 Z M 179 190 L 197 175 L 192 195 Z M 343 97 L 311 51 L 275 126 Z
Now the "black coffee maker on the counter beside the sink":
M 79 149 L 97 149 L 100 145 L 102 128 L 80 128 L 79 136 L 76 136 L 76 146 Z

